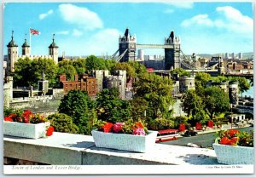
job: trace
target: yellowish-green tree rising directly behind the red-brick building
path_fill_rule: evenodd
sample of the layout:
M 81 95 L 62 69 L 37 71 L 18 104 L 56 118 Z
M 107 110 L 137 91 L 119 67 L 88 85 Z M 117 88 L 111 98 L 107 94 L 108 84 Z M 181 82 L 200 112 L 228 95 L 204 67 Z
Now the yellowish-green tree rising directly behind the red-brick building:
M 67 81 L 73 81 L 74 75 L 77 73 L 76 69 L 73 66 L 72 61 L 70 60 L 61 60 L 58 63 L 59 70 L 58 75 L 65 74 Z

